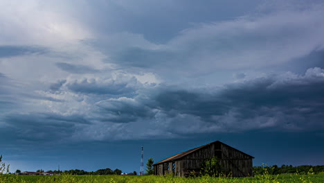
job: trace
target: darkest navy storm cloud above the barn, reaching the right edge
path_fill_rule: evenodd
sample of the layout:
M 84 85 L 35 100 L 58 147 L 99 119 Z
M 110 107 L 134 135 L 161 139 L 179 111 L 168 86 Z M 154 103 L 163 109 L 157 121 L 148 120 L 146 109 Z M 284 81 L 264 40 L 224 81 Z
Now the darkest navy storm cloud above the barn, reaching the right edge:
M 304 76 L 284 73 L 233 83 L 214 94 L 207 89 L 190 92 L 161 87 L 134 99 L 107 100 L 98 106 L 99 112 L 108 116 L 107 121 L 156 120 L 163 116 L 163 123 L 172 121 L 172 128 L 167 130 L 175 131 L 182 124 L 190 127 L 199 123 L 221 131 L 316 130 L 324 128 L 323 91 L 324 71 L 314 68 Z

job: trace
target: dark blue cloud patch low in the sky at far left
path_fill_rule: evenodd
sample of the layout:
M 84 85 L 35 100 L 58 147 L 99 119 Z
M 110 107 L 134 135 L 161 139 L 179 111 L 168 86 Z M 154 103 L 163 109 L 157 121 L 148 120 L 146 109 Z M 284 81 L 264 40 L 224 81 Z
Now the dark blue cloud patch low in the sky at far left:
M 56 141 L 71 137 L 76 125 L 89 122 L 82 116 L 62 116 L 53 113 L 9 114 L 4 116 L 3 129 L 26 141 Z

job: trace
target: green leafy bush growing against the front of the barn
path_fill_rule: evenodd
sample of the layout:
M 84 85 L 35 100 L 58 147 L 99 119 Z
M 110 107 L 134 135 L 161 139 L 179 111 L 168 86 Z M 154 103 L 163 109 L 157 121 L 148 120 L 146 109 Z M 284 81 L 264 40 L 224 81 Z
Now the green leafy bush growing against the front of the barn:
M 201 164 L 201 175 L 218 177 L 222 173 L 222 167 L 219 164 L 217 157 L 207 159 Z

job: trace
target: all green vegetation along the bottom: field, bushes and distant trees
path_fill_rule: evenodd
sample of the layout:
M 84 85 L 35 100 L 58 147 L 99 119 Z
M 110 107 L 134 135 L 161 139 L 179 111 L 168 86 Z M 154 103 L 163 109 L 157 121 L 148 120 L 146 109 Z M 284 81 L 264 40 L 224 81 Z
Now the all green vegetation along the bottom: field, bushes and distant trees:
M 318 172 L 322 170 L 323 166 L 303 166 L 299 168 L 299 173 L 284 173 L 280 175 L 273 175 L 276 173 L 282 173 L 287 170 L 298 171 L 298 168 L 294 169 L 292 166 L 264 166 L 255 167 L 254 172 L 257 174 L 255 177 L 213 177 L 213 175 L 219 175 L 217 171 L 210 171 L 213 168 L 215 162 L 211 161 L 208 165 L 204 166 L 204 175 L 199 177 L 174 177 L 173 175 L 167 176 L 157 176 L 157 175 L 145 175 L 145 176 L 135 176 L 135 175 L 105 175 L 106 173 L 116 173 L 116 171 L 111 171 L 111 169 L 106 168 L 100 170 L 101 175 L 71 175 L 69 171 L 62 173 L 62 175 L 8 175 L 3 173 L 9 173 L 9 166 L 6 166 L 1 162 L 2 156 L 0 156 L 0 183 L 124 183 L 124 182 L 155 182 L 155 183 L 181 183 L 181 182 L 195 182 L 195 183 L 208 183 L 208 182 L 232 182 L 232 183 L 316 183 L 324 182 L 324 172 Z M 215 167 L 214 167 L 215 168 Z M 316 169 L 314 173 L 313 168 Z M 119 173 L 120 170 L 116 169 Z M 306 172 L 307 171 L 307 172 Z M 98 172 L 98 174 L 99 174 Z M 74 172 L 78 173 L 78 171 Z M 208 176 L 208 175 L 212 176 Z M 272 174 L 272 175 L 271 175 Z

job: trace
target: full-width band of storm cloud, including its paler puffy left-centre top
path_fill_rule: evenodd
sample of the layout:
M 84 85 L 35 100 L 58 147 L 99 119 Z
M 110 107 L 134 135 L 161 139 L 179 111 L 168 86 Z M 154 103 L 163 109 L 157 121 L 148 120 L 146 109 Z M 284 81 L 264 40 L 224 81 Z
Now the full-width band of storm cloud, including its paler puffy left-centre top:
M 46 110 L 51 112 L 8 114 L 4 121 L 19 137 L 34 141 L 46 137 L 115 140 L 324 128 L 324 70 L 320 68 L 307 69 L 303 76 L 271 74 L 218 89 L 192 90 L 137 82 L 136 78 L 59 81 L 55 92 L 39 93 L 64 100 L 46 100 Z M 102 87 L 103 83 L 106 87 Z M 123 83 L 134 85 L 127 87 Z

